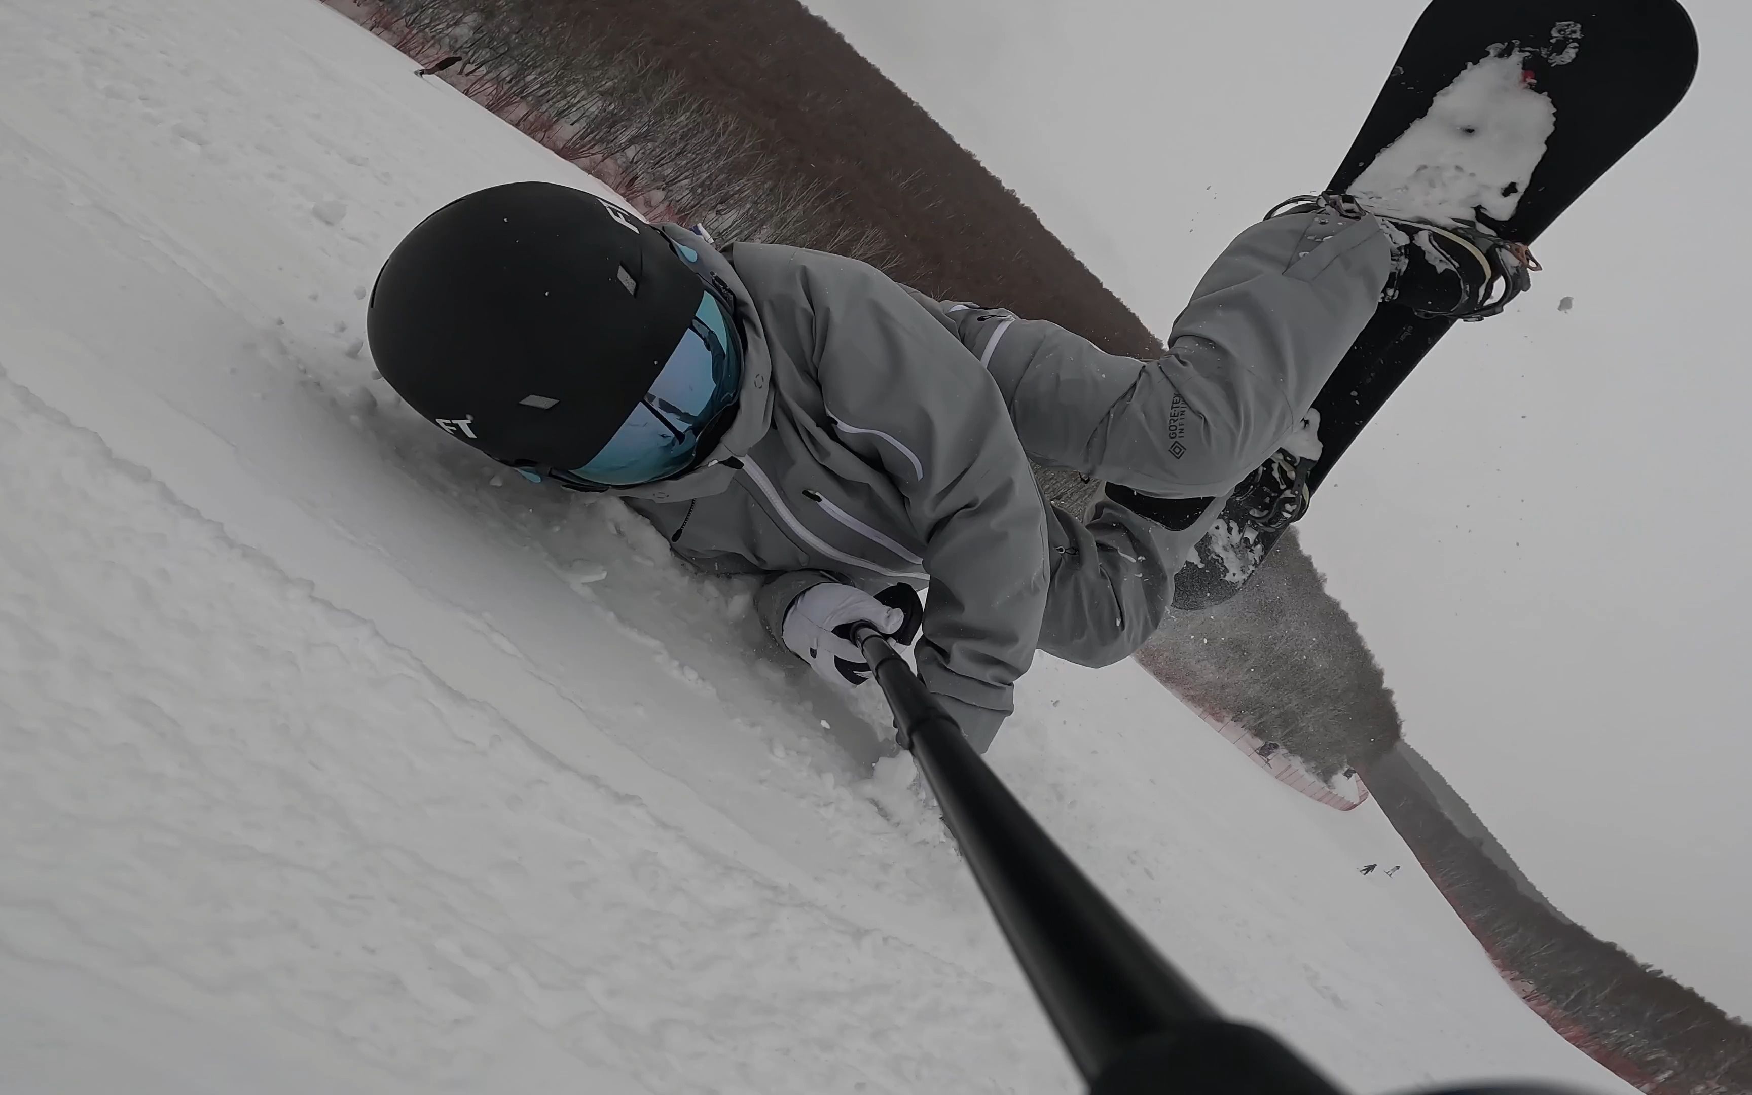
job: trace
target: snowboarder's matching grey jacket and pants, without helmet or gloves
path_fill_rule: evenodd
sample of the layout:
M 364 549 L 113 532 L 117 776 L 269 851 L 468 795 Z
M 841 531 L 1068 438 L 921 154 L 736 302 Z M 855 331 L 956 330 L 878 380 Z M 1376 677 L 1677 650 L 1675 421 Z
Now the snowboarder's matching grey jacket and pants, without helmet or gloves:
M 981 750 L 1035 648 L 1107 664 L 1155 631 L 1174 571 L 1302 422 L 1389 263 L 1368 217 L 1258 224 L 1146 363 L 855 259 L 664 231 L 736 300 L 741 403 L 697 470 L 613 492 L 697 566 L 773 575 L 774 636 L 813 583 L 929 582 L 918 669 Z M 1107 501 L 1079 520 L 1041 498 L 1030 456 L 1214 501 L 1181 531 Z

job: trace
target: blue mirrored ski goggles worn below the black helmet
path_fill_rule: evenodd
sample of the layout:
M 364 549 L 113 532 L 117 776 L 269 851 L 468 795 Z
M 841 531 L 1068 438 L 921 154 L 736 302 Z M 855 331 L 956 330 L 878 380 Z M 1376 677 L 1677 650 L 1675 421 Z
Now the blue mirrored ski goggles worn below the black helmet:
M 636 487 L 680 475 L 704 456 L 704 445 L 722 434 L 718 426 L 736 408 L 741 380 L 741 343 L 731 314 L 717 296 L 703 293 L 662 371 L 589 463 L 517 471 L 531 482 L 541 482 L 545 473 L 582 491 Z

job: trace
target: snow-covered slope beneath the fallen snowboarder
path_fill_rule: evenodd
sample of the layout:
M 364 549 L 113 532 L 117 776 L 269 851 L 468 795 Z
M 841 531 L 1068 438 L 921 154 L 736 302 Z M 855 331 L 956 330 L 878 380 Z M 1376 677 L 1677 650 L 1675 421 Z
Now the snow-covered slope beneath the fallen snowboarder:
M 1070 1090 L 746 590 L 371 380 L 387 247 L 508 179 L 592 186 L 314 0 L 0 5 L 0 1090 Z M 1344 1081 L 1622 1090 L 1135 666 L 992 760 Z

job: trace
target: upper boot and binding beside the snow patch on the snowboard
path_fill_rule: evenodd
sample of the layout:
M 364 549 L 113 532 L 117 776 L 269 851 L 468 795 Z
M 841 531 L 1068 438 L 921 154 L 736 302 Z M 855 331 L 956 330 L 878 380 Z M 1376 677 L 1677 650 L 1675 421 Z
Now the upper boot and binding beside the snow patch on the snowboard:
M 1321 210 L 1353 221 L 1370 212 L 1349 194 L 1300 194 L 1265 219 Z M 1372 215 L 1393 244 L 1393 273 L 1381 301 L 1417 315 L 1468 321 L 1496 315 L 1531 286 L 1531 272 L 1540 268 L 1526 244 L 1498 238 L 1477 224 Z

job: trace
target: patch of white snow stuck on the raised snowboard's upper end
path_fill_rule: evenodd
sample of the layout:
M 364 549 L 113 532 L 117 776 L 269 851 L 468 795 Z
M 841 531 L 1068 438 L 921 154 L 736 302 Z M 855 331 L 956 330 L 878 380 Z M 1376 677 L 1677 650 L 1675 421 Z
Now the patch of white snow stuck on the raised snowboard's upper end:
M 1480 210 L 1512 217 L 1558 117 L 1551 98 L 1528 86 L 1526 56 L 1493 51 L 1466 67 L 1375 156 L 1351 194 L 1375 212 L 1442 224 L 1475 221 Z

